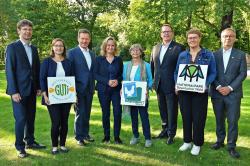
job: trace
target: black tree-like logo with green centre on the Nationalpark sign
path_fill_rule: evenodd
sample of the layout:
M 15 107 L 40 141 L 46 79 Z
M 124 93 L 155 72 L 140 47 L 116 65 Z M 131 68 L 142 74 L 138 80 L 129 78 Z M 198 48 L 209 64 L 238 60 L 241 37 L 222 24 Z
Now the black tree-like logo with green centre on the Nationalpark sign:
M 179 77 L 184 77 L 184 81 L 186 81 L 187 77 L 189 77 L 189 81 L 192 82 L 193 78 L 196 78 L 196 82 L 199 78 L 204 79 L 203 72 L 201 70 L 200 65 L 186 65 L 181 71 Z

